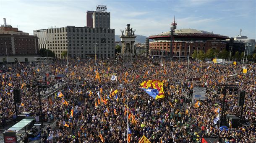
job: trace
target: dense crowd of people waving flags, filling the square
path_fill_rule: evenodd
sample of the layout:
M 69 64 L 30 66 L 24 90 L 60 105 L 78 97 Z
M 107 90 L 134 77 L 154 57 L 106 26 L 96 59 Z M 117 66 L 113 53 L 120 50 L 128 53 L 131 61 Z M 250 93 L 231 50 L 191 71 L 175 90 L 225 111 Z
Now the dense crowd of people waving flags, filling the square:
M 148 59 L 128 65 L 122 60 L 97 60 L 97 64 L 94 60 L 70 60 L 66 73 L 66 61 L 57 60 L 47 71 L 40 71 L 33 64 L 3 68 L 0 126 L 17 118 L 13 102 L 15 88 L 21 89 L 18 112 L 40 116 L 37 90 L 27 86 L 40 81 L 48 88 L 66 83 L 56 94 L 42 99 L 43 119 L 56 124 L 56 128 L 46 127 L 44 143 L 124 143 L 128 128 L 130 143 L 138 143 L 143 135 L 151 143 L 199 143 L 201 137 L 220 137 L 230 143 L 255 142 L 256 64 L 247 64 L 246 74 L 241 65 L 194 61 L 189 64 L 187 74 L 187 65 L 187 61 L 164 61 L 164 66 L 159 66 Z M 65 77 L 55 79 L 57 74 Z M 232 74 L 238 76 L 229 77 Z M 112 75 L 117 79 L 111 80 Z M 164 83 L 164 98 L 155 100 L 139 88 L 141 82 L 152 79 Z M 237 86 L 238 93 L 227 93 L 225 109 L 215 112 L 222 107 L 223 95 L 214 92 L 223 84 Z M 206 100 L 201 100 L 199 107 L 185 97 L 191 95 L 193 87 L 207 89 Z M 228 114 L 240 117 L 241 106 L 237 102 L 242 90 L 246 92 L 242 120 L 250 124 L 238 128 L 230 125 L 228 130 L 221 130 L 219 121 L 214 124 L 214 119 L 221 110 L 223 117 Z

